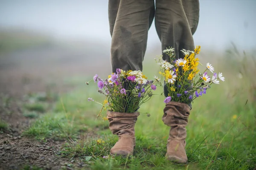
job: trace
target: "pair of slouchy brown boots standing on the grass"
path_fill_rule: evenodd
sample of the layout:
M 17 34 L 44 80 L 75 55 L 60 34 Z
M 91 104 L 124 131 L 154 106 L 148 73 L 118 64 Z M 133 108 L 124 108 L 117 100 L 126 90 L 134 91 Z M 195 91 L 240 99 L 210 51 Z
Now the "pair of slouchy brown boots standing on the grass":
M 166 158 L 180 164 L 186 164 L 186 125 L 188 123 L 191 107 L 184 103 L 169 102 L 164 108 L 162 120 L 165 125 L 170 126 L 167 141 Z M 135 147 L 134 126 L 139 112 L 119 113 L 107 112 L 109 128 L 113 134 L 119 136 L 118 142 L 111 148 L 111 155 L 131 156 Z

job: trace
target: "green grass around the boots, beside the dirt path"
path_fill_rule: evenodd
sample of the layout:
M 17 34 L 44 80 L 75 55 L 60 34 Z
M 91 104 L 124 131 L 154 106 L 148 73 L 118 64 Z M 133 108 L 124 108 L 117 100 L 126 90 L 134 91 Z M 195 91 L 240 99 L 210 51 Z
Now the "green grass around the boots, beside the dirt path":
M 101 118 L 95 120 L 101 107 L 87 102 L 87 98 L 103 101 L 104 97 L 96 92 L 93 83 L 78 85 L 75 91 L 61 96 L 54 111 L 41 115 L 25 134 L 37 139 L 68 139 L 59 155 L 86 162 L 92 170 L 253 170 L 256 166 L 256 83 L 250 69 L 256 65 L 245 70 L 238 60 L 232 62 L 237 64 L 236 68 L 218 63 L 215 70 L 221 70 L 226 81 L 207 90 L 207 96 L 193 103 L 186 127 L 189 159 L 186 165 L 165 159 L 169 127 L 161 119 L 163 97 L 157 95 L 140 108 L 140 112 L 149 112 L 151 116 L 141 114 L 138 117 L 134 156 L 128 158 L 109 155 L 117 136 L 111 134 L 108 122 Z M 152 69 L 154 65 L 145 64 L 143 72 L 147 77 L 158 74 L 157 69 Z M 242 78 L 240 75 L 238 78 L 238 74 L 242 74 Z M 157 93 L 161 91 L 157 89 Z M 104 114 L 105 111 L 102 116 Z

